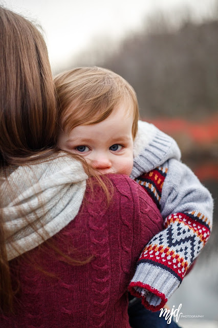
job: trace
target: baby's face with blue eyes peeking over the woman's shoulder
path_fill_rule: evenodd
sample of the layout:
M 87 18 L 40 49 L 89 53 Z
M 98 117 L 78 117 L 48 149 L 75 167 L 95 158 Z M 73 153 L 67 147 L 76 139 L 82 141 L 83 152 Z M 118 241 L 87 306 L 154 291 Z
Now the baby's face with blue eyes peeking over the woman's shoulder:
M 130 112 L 130 111 L 128 111 Z M 105 120 L 61 131 L 58 146 L 79 154 L 101 174 L 130 175 L 133 169 L 133 114 L 118 105 Z

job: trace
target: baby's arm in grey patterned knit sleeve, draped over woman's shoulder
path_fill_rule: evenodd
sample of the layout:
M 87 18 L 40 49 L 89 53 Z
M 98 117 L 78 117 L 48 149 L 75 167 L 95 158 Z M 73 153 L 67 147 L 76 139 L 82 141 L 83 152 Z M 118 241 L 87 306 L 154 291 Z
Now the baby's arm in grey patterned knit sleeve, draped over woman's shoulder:
M 161 134 L 165 138 L 166 135 L 157 131 L 159 140 Z M 155 147 L 163 149 L 157 138 L 154 139 Z M 140 167 L 146 150 L 150 154 L 152 142 L 142 155 L 139 154 Z M 167 159 L 163 165 L 142 174 L 136 180 L 160 208 L 165 219 L 165 230 L 146 245 L 129 290 L 135 296 L 142 297 L 147 309 L 157 311 L 178 288 L 208 240 L 213 201 L 209 191 L 193 172 L 175 158 Z

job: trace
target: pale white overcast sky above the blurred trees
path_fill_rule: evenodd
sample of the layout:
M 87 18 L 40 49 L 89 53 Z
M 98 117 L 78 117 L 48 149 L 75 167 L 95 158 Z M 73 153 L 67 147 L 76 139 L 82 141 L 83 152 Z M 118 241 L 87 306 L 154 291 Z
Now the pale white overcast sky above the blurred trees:
M 5 7 L 38 22 L 45 31 L 53 70 L 88 47 L 95 37 L 119 39 L 141 27 L 152 13 L 190 9 L 199 19 L 211 15 L 215 0 L 0 0 Z

